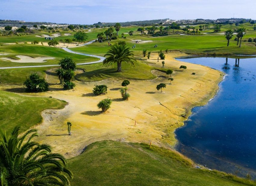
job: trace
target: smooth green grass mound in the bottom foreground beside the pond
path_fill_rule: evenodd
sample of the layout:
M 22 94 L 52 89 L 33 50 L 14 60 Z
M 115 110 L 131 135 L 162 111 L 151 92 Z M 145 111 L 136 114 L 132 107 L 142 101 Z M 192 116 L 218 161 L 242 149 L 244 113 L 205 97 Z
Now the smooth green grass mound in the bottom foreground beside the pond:
M 218 171 L 192 168 L 177 153 L 149 145 L 100 141 L 68 160 L 71 185 L 255 185 Z M 241 184 L 246 183 L 246 184 Z

